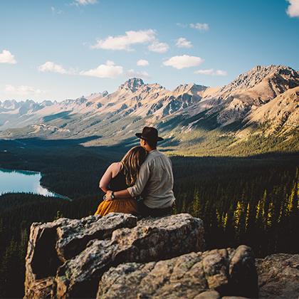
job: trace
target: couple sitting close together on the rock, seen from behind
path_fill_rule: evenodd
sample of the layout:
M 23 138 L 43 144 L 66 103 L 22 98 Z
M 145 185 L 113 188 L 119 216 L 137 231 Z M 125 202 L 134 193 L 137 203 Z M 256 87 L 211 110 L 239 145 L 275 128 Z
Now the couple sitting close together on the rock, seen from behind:
M 175 201 L 172 162 L 157 150 L 157 142 L 163 138 L 154 127 L 145 127 L 136 136 L 140 138 L 140 146 L 129 150 L 121 162 L 112 163 L 100 180 L 105 196 L 95 215 L 172 214 Z

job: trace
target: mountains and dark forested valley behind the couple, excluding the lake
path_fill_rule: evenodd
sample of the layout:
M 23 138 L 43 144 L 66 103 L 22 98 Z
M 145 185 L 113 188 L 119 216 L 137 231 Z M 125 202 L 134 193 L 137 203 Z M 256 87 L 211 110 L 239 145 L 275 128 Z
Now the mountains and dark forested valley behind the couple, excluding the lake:
M 0 102 L 0 167 L 41 172 L 41 186 L 71 199 L 0 196 L 0 297 L 23 295 L 32 222 L 93 214 L 100 177 L 145 125 L 157 127 L 172 159 L 174 213 L 203 219 L 206 249 L 298 252 L 298 105 L 298 71 L 282 65 L 257 66 L 222 88 L 169 91 L 132 78 L 111 94 Z

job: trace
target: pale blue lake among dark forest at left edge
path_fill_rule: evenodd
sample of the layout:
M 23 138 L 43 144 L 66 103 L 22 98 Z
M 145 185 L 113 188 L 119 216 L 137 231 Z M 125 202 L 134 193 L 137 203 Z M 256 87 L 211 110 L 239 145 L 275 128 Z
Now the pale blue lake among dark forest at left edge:
M 66 198 L 41 186 L 41 172 L 0 168 L 0 195 L 5 193 L 33 193 Z

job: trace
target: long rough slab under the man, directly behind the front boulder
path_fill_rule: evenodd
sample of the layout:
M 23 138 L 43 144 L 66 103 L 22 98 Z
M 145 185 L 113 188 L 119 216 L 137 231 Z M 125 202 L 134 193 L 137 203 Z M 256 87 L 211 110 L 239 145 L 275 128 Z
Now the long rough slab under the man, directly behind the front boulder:
M 98 281 L 110 267 L 202 251 L 203 236 L 201 219 L 189 214 L 142 220 L 132 229 L 117 229 L 111 239 L 91 241 L 78 256 L 58 268 L 57 295 L 94 297 Z

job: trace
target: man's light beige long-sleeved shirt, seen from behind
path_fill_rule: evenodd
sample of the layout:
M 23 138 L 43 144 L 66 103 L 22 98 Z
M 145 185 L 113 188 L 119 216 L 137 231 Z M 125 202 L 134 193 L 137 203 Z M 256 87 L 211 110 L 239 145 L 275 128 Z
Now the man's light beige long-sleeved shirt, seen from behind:
M 152 150 L 140 168 L 137 181 L 127 190 L 130 194 L 142 194 L 143 203 L 151 209 L 163 209 L 172 206 L 174 177 L 172 162 L 162 152 Z

